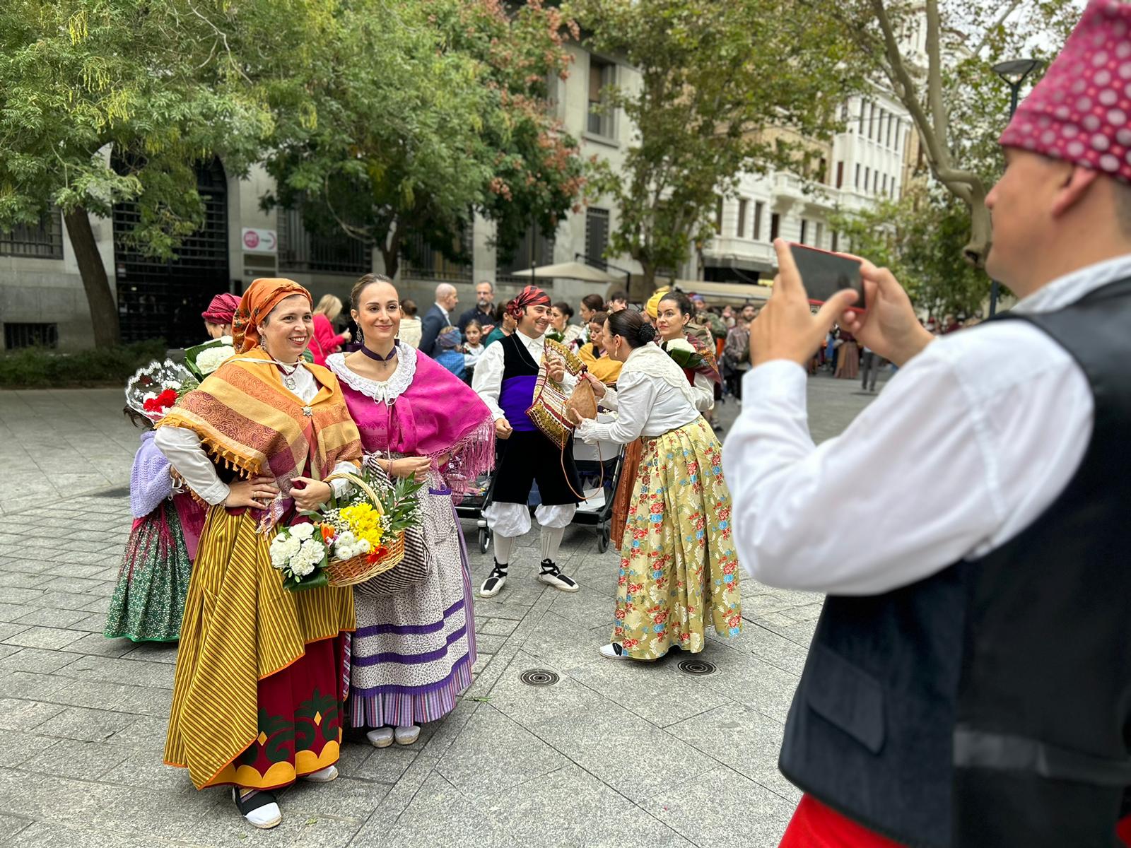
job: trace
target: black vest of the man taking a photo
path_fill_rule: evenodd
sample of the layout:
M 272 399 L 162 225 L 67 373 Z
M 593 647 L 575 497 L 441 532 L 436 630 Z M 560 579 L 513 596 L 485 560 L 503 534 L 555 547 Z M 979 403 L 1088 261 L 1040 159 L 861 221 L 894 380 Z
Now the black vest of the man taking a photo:
M 1131 786 L 1131 279 L 1002 318 L 1041 328 L 1087 375 L 1081 465 L 986 556 L 828 597 L 779 765 L 908 846 L 1108 848 Z

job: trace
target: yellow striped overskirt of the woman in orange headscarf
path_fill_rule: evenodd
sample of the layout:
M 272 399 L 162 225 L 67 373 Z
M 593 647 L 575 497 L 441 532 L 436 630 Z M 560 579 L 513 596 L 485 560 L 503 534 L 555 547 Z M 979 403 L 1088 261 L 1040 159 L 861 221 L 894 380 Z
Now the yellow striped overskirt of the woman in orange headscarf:
M 355 628 L 351 589 L 283 588 L 273 537 L 256 533 L 250 513 L 219 507 L 200 536 L 165 739 L 165 762 L 187 768 L 198 789 L 259 735 L 259 681 L 302 658 L 308 643 Z

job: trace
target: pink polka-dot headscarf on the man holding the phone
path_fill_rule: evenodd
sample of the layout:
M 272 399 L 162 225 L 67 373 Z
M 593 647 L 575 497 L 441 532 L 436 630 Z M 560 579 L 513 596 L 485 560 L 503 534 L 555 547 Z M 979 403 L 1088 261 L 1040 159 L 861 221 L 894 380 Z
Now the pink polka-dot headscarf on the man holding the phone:
M 1131 5 L 1091 0 L 1000 142 L 1131 183 L 1129 116 Z

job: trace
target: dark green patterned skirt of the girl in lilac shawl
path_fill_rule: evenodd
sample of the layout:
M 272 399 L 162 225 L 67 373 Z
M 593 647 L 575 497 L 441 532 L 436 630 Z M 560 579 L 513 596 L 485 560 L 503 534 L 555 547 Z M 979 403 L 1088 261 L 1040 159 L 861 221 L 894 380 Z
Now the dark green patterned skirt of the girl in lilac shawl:
M 176 508 L 172 501 L 162 501 L 133 521 L 104 634 L 135 642 L 175 642 L 191 570 Z

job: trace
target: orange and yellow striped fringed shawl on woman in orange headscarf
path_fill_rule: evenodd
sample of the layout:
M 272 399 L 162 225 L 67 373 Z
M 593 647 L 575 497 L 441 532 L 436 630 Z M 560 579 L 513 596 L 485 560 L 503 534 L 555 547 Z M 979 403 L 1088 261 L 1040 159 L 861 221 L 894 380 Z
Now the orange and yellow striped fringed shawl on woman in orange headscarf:
M 242 476 L 269 474 L 284 497 L 291 481 L 304 474 L 322 479 L 343 461 L 359 462 L 361 435 L 349 417 L 338 379 L 320 365 L 307 365 L 320 389 L 303 404 L 283 386 L 278 367 L 260 349 L 232 357 L 182 397 L 157 426 L 185 427 L 218 462 Z M 286 504 L 273 504 L 266 526 Z

